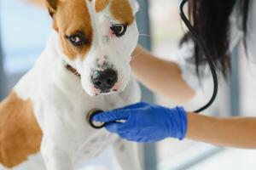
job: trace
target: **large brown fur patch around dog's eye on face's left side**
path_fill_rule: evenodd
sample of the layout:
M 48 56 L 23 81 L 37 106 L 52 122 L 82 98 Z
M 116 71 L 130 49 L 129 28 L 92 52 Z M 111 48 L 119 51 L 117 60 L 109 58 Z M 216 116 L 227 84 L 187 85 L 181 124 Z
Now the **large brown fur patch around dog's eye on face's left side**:
M 69 59 L 84 59 L 92 43 L 93 29 L 90 13 L 87 7 L 88 1 L 48 0 L 49 13 L 54 19 L 54 28 L 61 39 L 61 47 Z M 67 37 L 79 34 L 86 39 L 81 46 L 74 46 Z

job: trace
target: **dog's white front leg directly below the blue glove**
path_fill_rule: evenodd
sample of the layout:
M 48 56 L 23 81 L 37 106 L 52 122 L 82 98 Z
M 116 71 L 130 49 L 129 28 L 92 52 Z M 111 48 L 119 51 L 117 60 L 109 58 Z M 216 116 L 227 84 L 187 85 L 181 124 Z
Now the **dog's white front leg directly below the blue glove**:
M 139 159 L 138 144 L 118 139 L 113 144 L 113 149 L 122 170 L 141 170 L 142 165 Z

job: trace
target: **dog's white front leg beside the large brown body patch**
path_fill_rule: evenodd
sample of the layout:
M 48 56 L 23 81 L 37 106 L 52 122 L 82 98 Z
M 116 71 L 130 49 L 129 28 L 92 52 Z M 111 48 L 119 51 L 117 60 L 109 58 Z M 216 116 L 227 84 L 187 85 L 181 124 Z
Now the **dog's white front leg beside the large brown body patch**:
M 74 170 L 75 133 L 68 111 L 45 106 L 41 153 L 47 170 Z M 69 120 L 69 121 L 68 121 Z

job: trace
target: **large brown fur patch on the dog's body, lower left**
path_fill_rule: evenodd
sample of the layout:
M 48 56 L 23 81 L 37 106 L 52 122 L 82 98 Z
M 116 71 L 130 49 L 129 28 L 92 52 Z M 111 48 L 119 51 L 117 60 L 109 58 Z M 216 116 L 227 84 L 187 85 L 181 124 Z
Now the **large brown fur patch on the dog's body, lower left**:
M 32 102 L 15 92 L 0 104 L 0 164 L 16 167 L 40 150 L 43 133 L 32 111 Z

